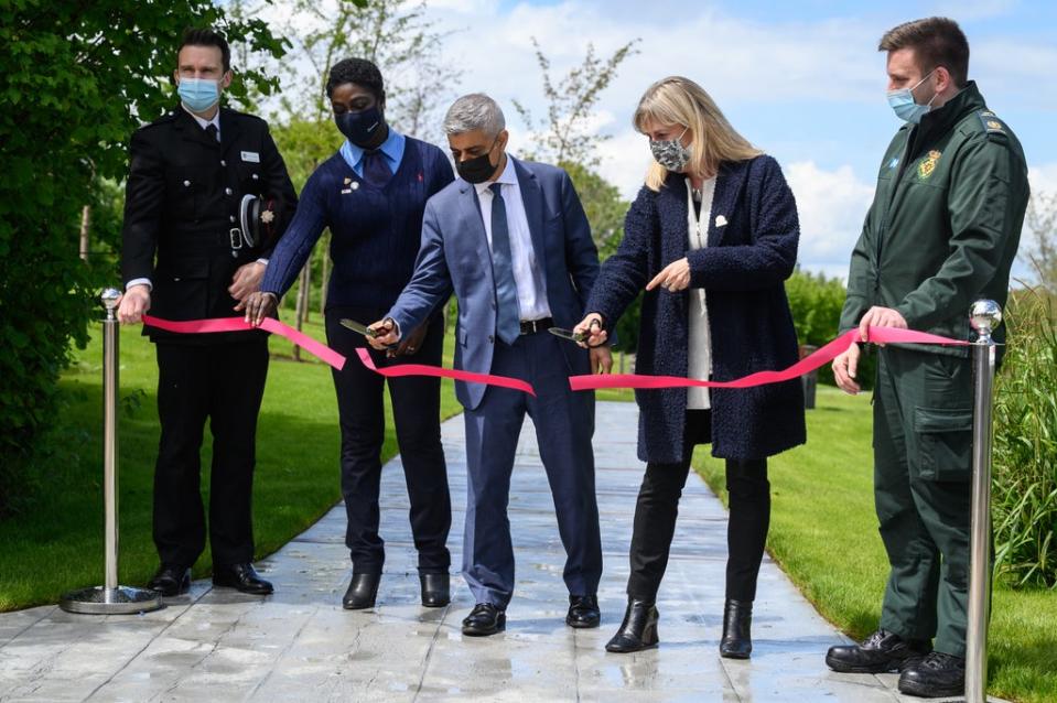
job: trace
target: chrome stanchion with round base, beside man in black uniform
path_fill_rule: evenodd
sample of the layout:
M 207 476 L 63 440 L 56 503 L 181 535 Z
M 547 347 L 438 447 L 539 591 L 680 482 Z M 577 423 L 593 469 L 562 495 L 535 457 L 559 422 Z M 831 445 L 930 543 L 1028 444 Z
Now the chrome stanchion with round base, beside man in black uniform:
M 103 495 L 105 510 L 104 585 L 72 591 L 58 602 L 69 613 L 115 615 L 155 610 L 161 595 L 147 588 L 118 585 L 118 339 L 115 310 L 121 293 L 108 288 L 100 296 L 103 321 Z

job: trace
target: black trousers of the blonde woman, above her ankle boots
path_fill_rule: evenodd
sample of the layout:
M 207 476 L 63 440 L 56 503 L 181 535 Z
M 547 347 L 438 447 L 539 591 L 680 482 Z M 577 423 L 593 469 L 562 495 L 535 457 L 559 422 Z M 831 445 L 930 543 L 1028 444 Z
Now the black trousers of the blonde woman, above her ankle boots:
M 711 411 L 688 410 L 683 461 L 646 465 L 635 505 L 628 596 L 649 602 L 657 598 L 668 567 L 679 498 L 690 473 L 693 447 L 711 441 Z M 726 490 L 731 508 L 726 527 L 726 597 L 751 602 L 756 598 L 756 577 L 770 524 L 767 459 L 726 459 Z

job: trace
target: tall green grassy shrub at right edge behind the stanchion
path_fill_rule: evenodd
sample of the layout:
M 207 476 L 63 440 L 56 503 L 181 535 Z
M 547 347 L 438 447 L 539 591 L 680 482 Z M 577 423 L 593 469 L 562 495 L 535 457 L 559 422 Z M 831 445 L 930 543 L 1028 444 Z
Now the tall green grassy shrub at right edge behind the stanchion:
M 1057 311 L 1022 291 L 1006 310 L 995 381 L 995 566 L 1017 586 L 1057 587 Z

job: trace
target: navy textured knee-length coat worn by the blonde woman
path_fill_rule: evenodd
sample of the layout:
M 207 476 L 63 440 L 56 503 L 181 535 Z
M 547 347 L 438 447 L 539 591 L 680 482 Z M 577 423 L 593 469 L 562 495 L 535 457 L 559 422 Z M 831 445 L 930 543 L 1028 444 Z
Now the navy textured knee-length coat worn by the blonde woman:
M 797 361 L 797 335 L 784 281 L 796 266 L 800 226 L 792 192 L 770 156 L 719 170 L 708 247 L 689 251 L 687 187 L 670 173 L 632 204 L 624 239 L 602 266 L 586 310 L 610 328 L 657 273 L 689 257 L 690 285 L 704 288 L 712 332 L 712 378 L 732 380 Z M 687 376 L 687 291 L 644 293 L 636 371 Z M 799 379 L 748 389 L 712 389 L 712 455 L 749 459 L 803 444 Z M 686 389 L 638 390 L 638 456 L 682 461 Z

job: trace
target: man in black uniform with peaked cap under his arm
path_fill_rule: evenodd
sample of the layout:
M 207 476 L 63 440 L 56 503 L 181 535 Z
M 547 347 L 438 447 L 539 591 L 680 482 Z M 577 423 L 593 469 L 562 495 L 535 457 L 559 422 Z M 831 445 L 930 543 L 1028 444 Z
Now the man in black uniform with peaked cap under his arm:
M 219 107 L 231 83 L 230 50 L 188 30 L 177 53 L 181 105 L 132 136 L 126 191 L 123 323 L 241 316 L 267 257 L 296 206 L 268 125 Z M 157 256 L 157 260 L 155 260 Z M 213 583 L 245 593 L 272 586 L 252 566 L 250 498 L 257 413 L 268 372 L 265 333 L 177 335 L 145 327 L 157 344 L 161 441 L 153 536 L 161 566 L 150 587 L 185 593 L 205 549 L 199 459 L 213 432 L 209 543 Z

